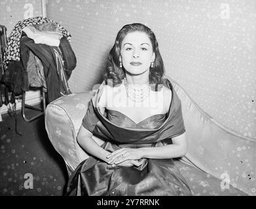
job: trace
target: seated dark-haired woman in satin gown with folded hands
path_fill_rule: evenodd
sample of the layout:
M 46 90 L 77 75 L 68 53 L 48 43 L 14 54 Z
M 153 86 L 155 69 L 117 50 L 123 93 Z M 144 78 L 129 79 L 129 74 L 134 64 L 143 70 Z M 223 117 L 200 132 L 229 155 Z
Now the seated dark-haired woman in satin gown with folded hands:
M 91 156 L 70 176 L 66 195 L 191 195 L 172 161 L 187 152 L 181 102 L 163 75 L 153 31 L 124 25 L 77 136 Z

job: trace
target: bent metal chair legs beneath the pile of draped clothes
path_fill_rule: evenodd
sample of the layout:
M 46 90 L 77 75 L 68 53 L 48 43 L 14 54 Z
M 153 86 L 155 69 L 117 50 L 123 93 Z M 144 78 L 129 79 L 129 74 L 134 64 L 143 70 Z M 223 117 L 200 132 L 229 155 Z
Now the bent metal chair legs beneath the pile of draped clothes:
M 43 90 L 42 90 L 43 91 Z M 43 91 L 43 110 L 42 108 L 38 108 L 36 106 L 31 106 L 31 105 L 27 105 L 25 103 L 26 101 L 26 91 L 23 92 L 23 95 L 22 95 L 22 118 L 27 122 L 31 122 L 31 121 L 34 121 L 36 120 L 37 118 L 40 118 L 41 116 L 44 116 L 45 115 L 45 92 Z M 32 118 L 27 118 L 26 115 L 25 115 L 25 108 L 29 108 L 29 109 L 32 109 L 32 110 L 38 110 L 38 111 L 43 111 L 39 114 L 37 114 L 36 116 L 32 117 Z

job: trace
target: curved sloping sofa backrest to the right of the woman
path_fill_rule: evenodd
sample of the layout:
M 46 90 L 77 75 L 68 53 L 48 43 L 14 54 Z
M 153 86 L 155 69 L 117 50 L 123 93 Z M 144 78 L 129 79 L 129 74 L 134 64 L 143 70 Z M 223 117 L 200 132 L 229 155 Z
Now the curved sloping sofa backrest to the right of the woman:
M 242 191 L 256 195 L 256 139 L 221 125 L 204 112 L 177 82 L 188 151 L 183 160 Z

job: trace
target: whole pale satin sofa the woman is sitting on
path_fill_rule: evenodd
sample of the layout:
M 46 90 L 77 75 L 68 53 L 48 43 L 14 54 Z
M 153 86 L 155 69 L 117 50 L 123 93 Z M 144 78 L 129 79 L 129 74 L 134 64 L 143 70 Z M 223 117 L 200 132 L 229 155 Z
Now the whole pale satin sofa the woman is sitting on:
M 172 78 L 181 99 L 188 151 L 174 159 L 192 194 L 256 195 L 256 139 L 221 125 L 198 106 Z M 97 90 L 97 89 L 96 89 Z M 96 90 L 73 93 L 46 107 L 45 127 L 50 142 L 62 155 L 67 173 L 89 155 L 77 143 L 77 133 Z M 103 141 L 93 137 L 98 144 Z

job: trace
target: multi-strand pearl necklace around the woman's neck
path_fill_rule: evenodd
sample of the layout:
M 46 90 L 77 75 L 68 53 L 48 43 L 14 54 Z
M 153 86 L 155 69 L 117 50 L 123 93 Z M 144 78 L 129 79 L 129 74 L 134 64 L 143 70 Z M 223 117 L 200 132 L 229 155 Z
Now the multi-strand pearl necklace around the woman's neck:
M 149 97 L 149 91 L 150 91 L 150 86 L 149 82 L 147 84 L 128 84 L 126 82 L 126 78 L 124 78 L 124 86 L 126 89 L 126 95 L 129 99 L 134 101 L 134 103 L 141 103 L 147 97 Z

